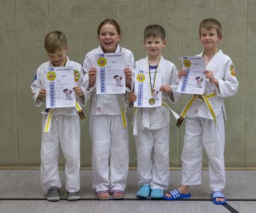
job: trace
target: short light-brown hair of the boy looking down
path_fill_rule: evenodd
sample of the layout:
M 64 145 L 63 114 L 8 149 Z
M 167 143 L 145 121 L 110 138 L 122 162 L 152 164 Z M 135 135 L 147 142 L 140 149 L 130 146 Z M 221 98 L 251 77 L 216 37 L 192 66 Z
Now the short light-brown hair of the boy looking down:
M 44 49 L 51 54 L 57 50 L 62 50 L 67 47 L 67 37 L 63 32 L 49 32 L 44 38 Z

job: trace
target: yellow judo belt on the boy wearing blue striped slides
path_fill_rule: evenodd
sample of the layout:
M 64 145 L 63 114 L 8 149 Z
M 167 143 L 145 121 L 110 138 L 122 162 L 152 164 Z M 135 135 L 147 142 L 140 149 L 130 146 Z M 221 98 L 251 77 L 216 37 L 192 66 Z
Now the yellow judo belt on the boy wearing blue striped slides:
M 196 99 L 201 99 L 202 101 L 205 102 L 209 112 L 212 115 L 212 118 L 213 118 L 213 120 L 215 122 L 215 125 L 216 125 L 216 115 L 215 115 L 215 113 L 214 113 L 214 111 L 212 109 L 212 105 L 211 105 L 211 103 L 209 101 L 209 98 L 212 98 L 215 95 L 216 95 L 216 93 L 212 93 L 210 95 L 194 95 L 194 96 L 192 96 L 192 98 L 189 100 L 187 105 L 183 108 L 183 112 L 181 113 L 180 118 L 178 118 L 178 120 L 177 120 L 177 124 L 176 124 L 177 127 L 181 126 L 181 124 L 183 123 L 183 119 L 185 118 L 187 112 L 189 111 L 189 108 L 192 106 L 192 104 L 195 102 Z

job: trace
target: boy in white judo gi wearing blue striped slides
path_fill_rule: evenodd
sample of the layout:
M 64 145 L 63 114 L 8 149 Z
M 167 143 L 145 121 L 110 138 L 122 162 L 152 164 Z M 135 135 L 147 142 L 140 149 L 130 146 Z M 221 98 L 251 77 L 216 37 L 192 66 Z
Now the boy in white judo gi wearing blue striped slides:
M 207 65 L 204 95 L 194 95 L 181 113 L 180 121 L 186 116 L 183 141 L 181 186 L 165 194 L 164 199 L 190 198 L 189 186 L 201 184 L 202 147 L 209 159 L 209 178 L 212 202 L 224 204 L 222 191 L 225 186 L 224 168 L 224 98 L 235 95 L 238 81 L 232 60 L 218 49 L 222 39 L 221 24 L 215 19 L 202 20 L 199 28 L 204 51 L 200 54 Z M 178 78 L 186 71 L 180 70 Z M 189 107 L 189 105 L 191 106 Z M 177 125 L 180 125 L 178 122 Z

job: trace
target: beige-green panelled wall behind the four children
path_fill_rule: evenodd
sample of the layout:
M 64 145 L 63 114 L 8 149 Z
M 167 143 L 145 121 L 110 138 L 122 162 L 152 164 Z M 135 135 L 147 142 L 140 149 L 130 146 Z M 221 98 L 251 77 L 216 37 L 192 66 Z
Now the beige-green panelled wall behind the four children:
M 98 45 L 99 23 L 114 18 L 122 28 L 121 45 L 140 59 L 145 56 L 143 28 L 160 24 L 167 32 L 164 56 L 180 67 L 179 56 L 201 52 L 198 26 L 207 17 L 215 17 L 223 24 L 224 37 L 219 48 L 234 61 L 240 82 L 238 93 L 226 100 L 226 165 L 256 166 L 255 10 L 253 0 L 1 0 L 0 166 L 40 164 L 40 112 L 44 107 L 34 107 L 30 84 L 37 67 L 47 60 L 44 51 L 47 32 L 65 32 L 69 57 L 81 62 L 85 53 Z M 187 98 L 183 96 L 173 109 L 180 112 Z M 88 114 L 88 106 L 84 110 Z M 131 111 L 129 115 L 131 118 Z M 88 120 L 81 128 L 81 162 L 83 167 L 88 167 L 91 153 Z M 181 165 L 183 133 L 184 125 L 178 130 L 172 120 L 171 166 Z M 130 166 L 136 166 L 132 135 L 130 138 Z M 206 156 L 204 165 L 207 165 Z

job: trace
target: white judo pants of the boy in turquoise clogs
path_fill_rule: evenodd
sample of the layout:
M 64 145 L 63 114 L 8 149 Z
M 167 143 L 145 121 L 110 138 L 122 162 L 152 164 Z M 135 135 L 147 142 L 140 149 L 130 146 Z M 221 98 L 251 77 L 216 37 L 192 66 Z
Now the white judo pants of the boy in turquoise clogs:
M 150 184 L 151 189 L 169 187 L 169 125 L 160 130 L 137 130 L 139 185 Z

